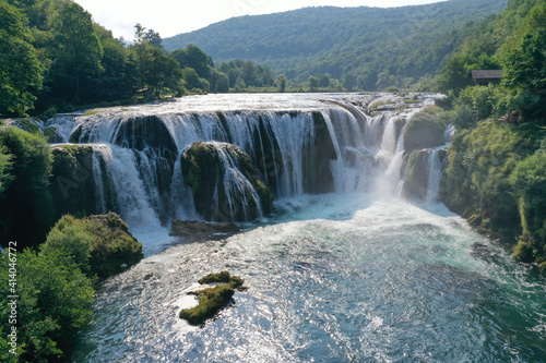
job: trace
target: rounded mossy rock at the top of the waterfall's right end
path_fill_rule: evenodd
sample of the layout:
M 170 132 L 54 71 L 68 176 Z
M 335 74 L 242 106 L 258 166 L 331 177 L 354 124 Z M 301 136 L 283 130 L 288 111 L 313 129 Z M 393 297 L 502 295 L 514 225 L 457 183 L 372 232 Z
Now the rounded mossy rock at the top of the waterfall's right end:
M 419 112 L 404 129 L 404 149 L 407 152 L 441 146 L 447 124 L 436 114 Z

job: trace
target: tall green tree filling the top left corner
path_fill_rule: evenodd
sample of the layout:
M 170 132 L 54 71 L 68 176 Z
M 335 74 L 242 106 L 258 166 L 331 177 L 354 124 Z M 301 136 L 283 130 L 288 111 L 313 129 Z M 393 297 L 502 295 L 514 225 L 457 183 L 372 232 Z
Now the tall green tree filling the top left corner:
M 41 63 L 21 12 L 0 0 L 0 116 L 26 116 L 41 88 Z

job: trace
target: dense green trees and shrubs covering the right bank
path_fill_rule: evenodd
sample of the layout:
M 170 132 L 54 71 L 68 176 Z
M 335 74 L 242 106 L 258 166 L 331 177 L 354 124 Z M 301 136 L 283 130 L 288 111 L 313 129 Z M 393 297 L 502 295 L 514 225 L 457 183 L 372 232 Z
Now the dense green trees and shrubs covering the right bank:
M 474 226 L 546 270 L 546 1 L 510 0 L 472 34 L 436 78 L 458 132 L 448 150 L 443 199 Z M 499 85 L 471 84 L 499 68 Z

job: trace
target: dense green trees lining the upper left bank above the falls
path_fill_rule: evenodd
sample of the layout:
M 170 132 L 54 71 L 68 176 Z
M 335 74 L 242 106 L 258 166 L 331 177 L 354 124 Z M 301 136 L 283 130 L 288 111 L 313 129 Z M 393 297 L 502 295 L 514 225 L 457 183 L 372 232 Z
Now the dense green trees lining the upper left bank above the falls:
M 126 47 L 69 0 L 1 0 L 0 10 L 0 116 L 52 116 L 274 83 L 271 69 L 252 61 L 216 68 L 193 45 L 168 52 L 161 35 L 140 24 Z

